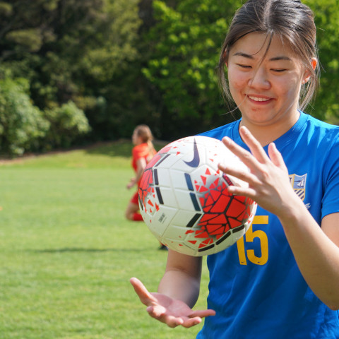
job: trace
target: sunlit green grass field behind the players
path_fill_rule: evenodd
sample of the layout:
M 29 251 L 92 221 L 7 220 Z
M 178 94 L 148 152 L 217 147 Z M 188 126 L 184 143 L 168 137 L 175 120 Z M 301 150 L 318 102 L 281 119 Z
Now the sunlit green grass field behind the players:
M 157 147 L 159 149 L 159 147 Z M 151 319 L 129 284 L 156 290 L 166 252 L 124 219 L 131 144 L 0 162 L 0 338 L 195 338 Z M 206 307 L 203 270 L 197 308 Z

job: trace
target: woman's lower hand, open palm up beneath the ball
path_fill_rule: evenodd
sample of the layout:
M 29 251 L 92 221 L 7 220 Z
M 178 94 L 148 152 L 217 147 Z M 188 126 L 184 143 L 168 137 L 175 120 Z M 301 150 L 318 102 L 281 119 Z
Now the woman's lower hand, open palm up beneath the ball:
M 137 278 L 131 278 L 130 282 L 141 302 L 147 307 L 148 314 L 169 327 L 189 328 L 201 323 L 202 318 L 215 315 L 212 309 L 194 311 L 181 300 L 161 293 L 150 293 Z

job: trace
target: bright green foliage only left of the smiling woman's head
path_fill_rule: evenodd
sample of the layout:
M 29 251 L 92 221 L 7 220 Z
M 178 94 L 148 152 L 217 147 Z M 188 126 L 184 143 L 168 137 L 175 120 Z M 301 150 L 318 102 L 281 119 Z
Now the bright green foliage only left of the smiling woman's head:
M 232 119 L 223 116 L 215 69 L 228 21 L 239 1 L 179 1 L 175 8 L 154 1 L 157 24 L 144 75 L 160 91 L 168 136 L 197 133 Z M 165 127 L 164 126 L 164 127 Z

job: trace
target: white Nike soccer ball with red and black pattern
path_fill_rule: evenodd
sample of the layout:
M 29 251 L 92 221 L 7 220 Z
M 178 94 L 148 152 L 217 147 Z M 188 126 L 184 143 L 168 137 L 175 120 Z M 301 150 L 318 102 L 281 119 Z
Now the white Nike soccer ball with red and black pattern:
M 191 256 L 215 254 L 251 225 L 256 203 L 227 190 L 248 184 L 221 172 L 218 163 L 248 170 L 221 141 L 207 136 L 169 143 L 145 167 L 138 191 L 141 215 L 169 249 Z

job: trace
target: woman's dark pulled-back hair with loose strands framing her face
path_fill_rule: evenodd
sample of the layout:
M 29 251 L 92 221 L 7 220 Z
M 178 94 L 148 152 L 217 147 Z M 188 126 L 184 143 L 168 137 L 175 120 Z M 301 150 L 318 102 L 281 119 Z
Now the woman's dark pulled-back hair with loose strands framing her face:
M 319 66 L 317 64 L 314 70 L 311 64 L 311 58 L 318 59 L 314 13 L 301 1 L 295 0 L 249 0 L 239 8 L 222 45 L 218 66 L 220 85 L 227 99 L 232 98 L 225 78 L 228 52 L 237 40 L 251 32 L 267 35 L 266 53 L 275 36 L 283 43 L 290 44 L 295 54 L 300 57 L 311 75 L 309 81 L 302 85 L 300 93 L 299 106 L 304 109 L 319 86 Z

